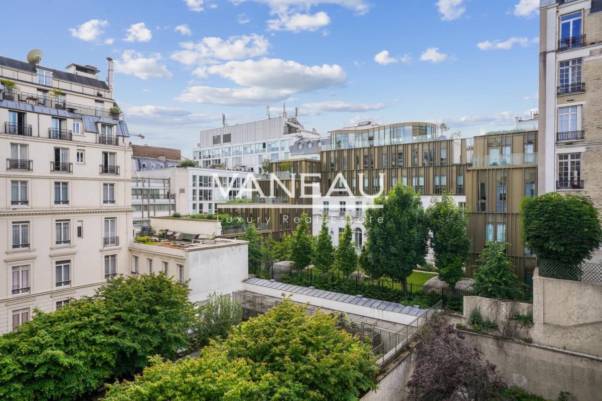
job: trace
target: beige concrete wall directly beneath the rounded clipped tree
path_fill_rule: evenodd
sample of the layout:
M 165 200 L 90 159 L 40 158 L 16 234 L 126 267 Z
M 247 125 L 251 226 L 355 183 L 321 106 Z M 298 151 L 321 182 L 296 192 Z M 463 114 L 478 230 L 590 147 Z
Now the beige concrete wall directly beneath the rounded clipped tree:
M 533 277 L 533 341 L 602 355 L 602 283 Z

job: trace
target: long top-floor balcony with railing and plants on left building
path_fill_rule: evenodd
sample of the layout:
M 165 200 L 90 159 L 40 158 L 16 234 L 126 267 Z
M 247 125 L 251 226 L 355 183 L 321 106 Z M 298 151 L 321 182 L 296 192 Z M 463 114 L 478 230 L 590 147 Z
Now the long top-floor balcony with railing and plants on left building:
M 27 103 L 29 105 L 66 110 L 73 114 L 85 114 L 92 115 L 93 117 L 106 117 L 112 118 L 113 120 L 123 121 L 122 112 L 116 113 L 111 112 L 110 110 L 78 105 L 77 103 L 68 103 L 62 99 L 58 99 L 57 97 L 40 96 L 37 94 L 4 89 L 0 91 L 0 100 L 12 100 L 13 102 Z

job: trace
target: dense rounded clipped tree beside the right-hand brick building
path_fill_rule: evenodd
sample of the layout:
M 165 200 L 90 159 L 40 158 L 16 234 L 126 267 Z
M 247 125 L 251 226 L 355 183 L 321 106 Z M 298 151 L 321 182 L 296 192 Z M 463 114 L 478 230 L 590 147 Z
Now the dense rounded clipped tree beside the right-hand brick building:
M 602 243 L 600 214 L 587 195 L 556 192 L 521 202 L 521 236 L 539 259 L 576 268 Z

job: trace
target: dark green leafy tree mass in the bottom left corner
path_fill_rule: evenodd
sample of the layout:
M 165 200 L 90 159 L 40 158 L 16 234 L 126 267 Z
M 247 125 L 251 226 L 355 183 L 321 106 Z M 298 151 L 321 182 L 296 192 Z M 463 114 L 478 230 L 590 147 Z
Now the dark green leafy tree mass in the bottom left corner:
M 164 273 L 119 277 L 0 336 L 0 399 L 67 401 L 189 344 L 196 308 Z M 26 346 L 24 346 L 26 344 Z

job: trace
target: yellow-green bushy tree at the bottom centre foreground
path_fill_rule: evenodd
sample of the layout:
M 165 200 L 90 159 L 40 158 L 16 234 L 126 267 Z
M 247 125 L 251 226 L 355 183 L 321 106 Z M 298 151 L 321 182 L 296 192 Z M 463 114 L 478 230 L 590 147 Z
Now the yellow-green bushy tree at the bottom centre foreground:
M 198 358 L 152 358 L 134 381 L 109 385 L 105 401 L 353 401 L 376 388 L 370 346 L 328 314 L 289 299 L 232 329 Z

